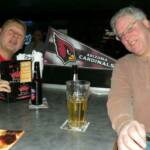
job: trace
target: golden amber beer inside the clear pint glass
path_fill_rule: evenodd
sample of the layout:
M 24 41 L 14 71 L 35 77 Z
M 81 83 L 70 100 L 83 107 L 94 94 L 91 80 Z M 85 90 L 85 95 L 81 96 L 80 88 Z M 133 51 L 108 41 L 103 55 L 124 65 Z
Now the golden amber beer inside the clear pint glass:
M 87 99 L 70 97 L 67 106 L 69 125 L 71 127 L 82 127 L 86 123 Z

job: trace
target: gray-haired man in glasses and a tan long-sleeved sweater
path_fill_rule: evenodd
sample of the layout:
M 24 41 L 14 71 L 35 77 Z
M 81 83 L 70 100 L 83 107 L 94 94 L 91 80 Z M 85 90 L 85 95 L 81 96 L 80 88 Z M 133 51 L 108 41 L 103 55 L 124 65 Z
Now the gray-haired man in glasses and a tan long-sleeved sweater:
M 150 132 L 150 23 L 136 7 L 111 19 L 116 39 L 131 52 L 115 64 L 107 109 L 119 150 L 144 150 Z

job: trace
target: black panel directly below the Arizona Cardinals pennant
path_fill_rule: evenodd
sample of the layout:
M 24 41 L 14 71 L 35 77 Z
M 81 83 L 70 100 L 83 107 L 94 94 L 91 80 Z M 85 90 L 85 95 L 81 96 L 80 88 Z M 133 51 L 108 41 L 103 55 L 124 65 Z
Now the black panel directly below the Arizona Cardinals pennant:
M 110 88 L 112 70 L 103 69 L 78 69 L 80 80 L 89 80 L 91 87 Z M 66 66 L 45 65 L 43 71 L 43 82 L 50 84 L 65 84 L 72 80 L 72 68 Z

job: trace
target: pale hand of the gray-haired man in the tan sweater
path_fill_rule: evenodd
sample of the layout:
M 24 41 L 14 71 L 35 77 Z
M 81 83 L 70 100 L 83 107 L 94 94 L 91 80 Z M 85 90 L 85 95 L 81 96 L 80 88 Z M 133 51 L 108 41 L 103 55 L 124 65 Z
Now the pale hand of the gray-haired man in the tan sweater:
M 118 135 L 118 150 L 144 150 L 146 131 L 143 124 L 133 120 L 125 124 Z

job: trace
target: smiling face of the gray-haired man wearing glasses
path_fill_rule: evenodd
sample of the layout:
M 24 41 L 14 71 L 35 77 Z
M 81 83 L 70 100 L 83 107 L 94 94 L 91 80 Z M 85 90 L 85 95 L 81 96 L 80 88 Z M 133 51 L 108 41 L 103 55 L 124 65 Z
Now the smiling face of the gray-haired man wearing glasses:
M 146 19 L 136 20 L 131 16 L 123 16 L 116 22 L 117 37 L 130 52 L 140 56 L 150 55 L 149 29 Z

